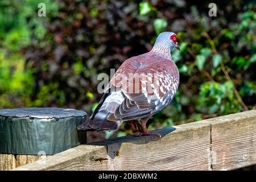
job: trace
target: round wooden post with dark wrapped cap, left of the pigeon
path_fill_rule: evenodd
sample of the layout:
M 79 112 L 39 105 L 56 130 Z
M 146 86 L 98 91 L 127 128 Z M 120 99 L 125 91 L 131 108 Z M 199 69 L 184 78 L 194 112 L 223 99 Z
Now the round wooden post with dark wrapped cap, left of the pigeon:
M 0 170 L 24 166 L 86 143 L 86 133 L 79 138 L 76 129 L 85 119 L 84 111 L 68 108 L 1 109 Z

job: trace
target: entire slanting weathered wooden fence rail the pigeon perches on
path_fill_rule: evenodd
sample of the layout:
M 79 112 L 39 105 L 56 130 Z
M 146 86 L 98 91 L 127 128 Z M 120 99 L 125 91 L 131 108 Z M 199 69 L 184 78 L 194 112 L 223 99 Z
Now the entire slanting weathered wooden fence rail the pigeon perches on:
M 230 170 L 256 164 L 256 110 L 89 143 L 15 170 Z

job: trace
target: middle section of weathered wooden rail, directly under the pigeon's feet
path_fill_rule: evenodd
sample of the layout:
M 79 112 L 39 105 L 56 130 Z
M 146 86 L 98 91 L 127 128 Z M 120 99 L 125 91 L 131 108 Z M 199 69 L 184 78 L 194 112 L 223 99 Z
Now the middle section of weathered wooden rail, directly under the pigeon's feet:
M 130 137 L 107 142 L 112 170 L 208 170 L 210 125 L 196 122 L 159 130 L 162 138 Z M 172 131 L 172 132 L 171 132 Z

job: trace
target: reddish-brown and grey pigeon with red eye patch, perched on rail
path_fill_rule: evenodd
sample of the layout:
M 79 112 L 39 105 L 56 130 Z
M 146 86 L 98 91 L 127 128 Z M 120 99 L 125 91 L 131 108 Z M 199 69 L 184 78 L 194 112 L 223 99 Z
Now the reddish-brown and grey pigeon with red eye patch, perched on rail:
M 134 133 L 161 137 L 147 131 L 146 123 L 170 104 L 179 86 L 179 71 L 171 56 L 175 48 L 179 49 L 176 34 L 162 32 L 150 52 L 123 62 L 104 89 L 92 116 L 77 129 L 110 131 L 129 122 Z

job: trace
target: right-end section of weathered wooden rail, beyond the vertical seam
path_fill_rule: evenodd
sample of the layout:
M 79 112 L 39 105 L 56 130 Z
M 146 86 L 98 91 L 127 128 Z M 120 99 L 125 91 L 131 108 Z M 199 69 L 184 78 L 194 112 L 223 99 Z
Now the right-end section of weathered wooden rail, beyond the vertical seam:
M 230 170 L 256 164 L 256 111 L 212 119 L 212 168 Z

